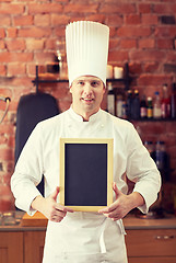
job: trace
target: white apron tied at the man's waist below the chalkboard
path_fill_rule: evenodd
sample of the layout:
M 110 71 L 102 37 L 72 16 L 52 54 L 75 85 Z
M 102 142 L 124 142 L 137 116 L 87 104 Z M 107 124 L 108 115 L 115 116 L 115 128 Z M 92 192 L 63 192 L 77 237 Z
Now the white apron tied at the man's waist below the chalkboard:
M 127 263 L 122 221 L 95 213 L 48 221 L 43 263 Z

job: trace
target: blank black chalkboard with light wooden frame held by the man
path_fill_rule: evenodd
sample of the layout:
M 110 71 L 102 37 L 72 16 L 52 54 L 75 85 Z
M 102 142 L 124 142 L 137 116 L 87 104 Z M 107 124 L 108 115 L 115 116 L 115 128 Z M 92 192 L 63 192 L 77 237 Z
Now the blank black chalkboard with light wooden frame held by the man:
M 60 203 L 96 211 L 113 202 L 113 139 L 60 139 Z

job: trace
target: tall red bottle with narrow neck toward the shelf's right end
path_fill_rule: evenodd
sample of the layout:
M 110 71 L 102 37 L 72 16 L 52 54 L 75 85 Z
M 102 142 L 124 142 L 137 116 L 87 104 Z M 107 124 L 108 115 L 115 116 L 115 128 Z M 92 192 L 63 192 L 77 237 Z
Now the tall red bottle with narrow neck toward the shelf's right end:
M 162 118 L 171 117 L 171 100 L 168 95 L 167 84 L 163 85 L 163 98 L 162 98 Z

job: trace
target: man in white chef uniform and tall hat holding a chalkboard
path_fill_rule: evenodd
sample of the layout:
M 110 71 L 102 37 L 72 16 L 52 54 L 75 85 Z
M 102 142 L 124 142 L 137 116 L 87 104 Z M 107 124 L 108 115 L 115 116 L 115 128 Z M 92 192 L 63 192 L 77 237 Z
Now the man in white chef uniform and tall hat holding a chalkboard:
M 109 28 L 104 24 L 79 21 L 67 26 L 71 107 L 36 126 L 11 179 L 16 206 L 28 215 L 39 210 L 49 219 L 43 263 L 126 263 L 121 219 L 136 207 L 146 213 L 161 187 L 156 165 L 132 124 L 101 108 L 108 41 Z M 59 204 L 60 138 L 114 139 L 114 203 L 109 207 L 86 213 Z M 42 174 L 45 197 L 36 188 Z M 128 195 L 125 175 L 136 183 Z

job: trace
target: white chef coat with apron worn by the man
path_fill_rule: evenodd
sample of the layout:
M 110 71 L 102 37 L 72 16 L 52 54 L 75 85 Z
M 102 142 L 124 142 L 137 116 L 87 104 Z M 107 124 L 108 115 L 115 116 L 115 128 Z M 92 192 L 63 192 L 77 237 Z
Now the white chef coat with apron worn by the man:
M 89 122 L 70 107 L 39 123 L 27 140 L 11 179 L 19 208 L 33 215 L 31 204 L 39 195 L 35 187 L 45 176 L 45 195 L 59 185 L 60 138 L 114 138 L 114 181 L 127 194 L 126 173 L 136 183 L 146 213 L 156 199 L 161 176 L 131 123 L 102 110 Z M 43 263 L 127 262 L 121 220 L 116 222 L 96 213 L 68 213 L 61 222 L 48 222 Z

